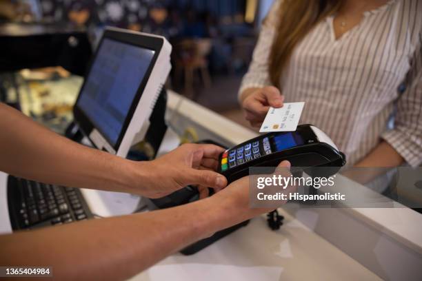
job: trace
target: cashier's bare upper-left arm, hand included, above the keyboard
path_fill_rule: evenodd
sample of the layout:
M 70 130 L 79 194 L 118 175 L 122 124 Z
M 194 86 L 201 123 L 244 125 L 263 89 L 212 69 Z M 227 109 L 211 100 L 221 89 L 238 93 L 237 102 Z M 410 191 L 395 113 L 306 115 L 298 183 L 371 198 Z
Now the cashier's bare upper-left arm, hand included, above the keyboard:
M 43 183 L 122 191 L 158 198 L 185 185 L 227 185 L 215 171 L 223 151 L 182 145 L 153 161 L 131 161 L 85 147 L 50 132 L 0 103 L 0 171 Z

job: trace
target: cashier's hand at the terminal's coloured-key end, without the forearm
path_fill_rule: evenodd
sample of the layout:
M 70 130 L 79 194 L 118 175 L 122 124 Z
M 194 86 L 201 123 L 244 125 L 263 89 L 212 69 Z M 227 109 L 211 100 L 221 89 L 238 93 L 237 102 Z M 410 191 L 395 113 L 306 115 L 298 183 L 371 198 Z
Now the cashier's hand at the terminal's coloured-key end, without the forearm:
M 217 192 L 227 185 L 227 179 L 216 172 L 219 154 L 224 149 L 217 145 L 181 145 L 172 152 L 141 167 L 148 173 L 142 183 L 143 196 L 160 198 L 186 185 L 211 187 Z

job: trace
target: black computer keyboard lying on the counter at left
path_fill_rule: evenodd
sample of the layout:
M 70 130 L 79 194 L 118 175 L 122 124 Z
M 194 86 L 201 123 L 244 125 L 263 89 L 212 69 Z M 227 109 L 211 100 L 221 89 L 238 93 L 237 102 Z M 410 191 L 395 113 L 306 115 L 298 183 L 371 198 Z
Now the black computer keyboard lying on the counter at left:
M 92 218 L 81 191 L 8 176 L 12 229 L 34 229 Z

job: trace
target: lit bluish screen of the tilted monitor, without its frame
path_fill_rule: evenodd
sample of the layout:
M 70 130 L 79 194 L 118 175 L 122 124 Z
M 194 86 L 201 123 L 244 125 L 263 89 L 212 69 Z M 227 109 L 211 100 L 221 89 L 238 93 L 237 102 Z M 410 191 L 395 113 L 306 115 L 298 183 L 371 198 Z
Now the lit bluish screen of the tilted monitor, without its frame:
M 77 106 L 113 147 L 154 51 L 104 39 Z

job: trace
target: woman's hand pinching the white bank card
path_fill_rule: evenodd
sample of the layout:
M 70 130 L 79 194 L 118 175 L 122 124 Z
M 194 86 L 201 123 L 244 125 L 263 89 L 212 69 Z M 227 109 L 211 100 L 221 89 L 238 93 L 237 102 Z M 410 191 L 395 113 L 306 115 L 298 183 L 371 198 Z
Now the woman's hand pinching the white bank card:
M 283 95 L 277 87 L 268 86 L 245 90 L 241 96 L 241 105 L 250 125 L 261 127 L 270 106 L 282 107 L 283 100 Z

